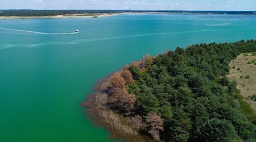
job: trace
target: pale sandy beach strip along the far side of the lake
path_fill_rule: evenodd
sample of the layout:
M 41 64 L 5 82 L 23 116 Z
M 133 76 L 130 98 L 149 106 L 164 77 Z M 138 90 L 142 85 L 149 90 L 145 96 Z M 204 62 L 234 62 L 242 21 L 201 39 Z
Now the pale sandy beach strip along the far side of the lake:
M 36 19 L 36 18 L 102 18 L 114 16 L 118 14 L 166 14 L 166 12 L 122 12 L 115 14 L 101 14 L 101 15 L 57 15 L 57 16 L 0 16 L 0 20 L 5 19 Z

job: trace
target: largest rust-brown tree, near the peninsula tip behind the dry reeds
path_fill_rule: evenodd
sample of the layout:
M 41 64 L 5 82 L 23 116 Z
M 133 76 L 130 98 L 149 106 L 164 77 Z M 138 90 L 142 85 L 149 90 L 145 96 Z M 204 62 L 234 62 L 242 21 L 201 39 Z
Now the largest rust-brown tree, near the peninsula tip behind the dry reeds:
M 135 108 L 136 96 L 127 93 L 125 89 L 115 89 L 114 94 L 109 98 L 110 108 L 114 108 L 125 115 L 133 113 Z

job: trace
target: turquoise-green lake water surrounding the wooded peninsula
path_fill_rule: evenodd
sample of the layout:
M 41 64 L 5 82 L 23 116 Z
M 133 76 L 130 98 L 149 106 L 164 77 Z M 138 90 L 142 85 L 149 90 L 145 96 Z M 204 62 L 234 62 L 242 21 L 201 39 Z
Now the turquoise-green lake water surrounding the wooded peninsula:
M 80 107 L 97 80 L 147 53 L 241 39 L 256 39 L 255 15 L 0 20 L 0 141 L 121 141 Z

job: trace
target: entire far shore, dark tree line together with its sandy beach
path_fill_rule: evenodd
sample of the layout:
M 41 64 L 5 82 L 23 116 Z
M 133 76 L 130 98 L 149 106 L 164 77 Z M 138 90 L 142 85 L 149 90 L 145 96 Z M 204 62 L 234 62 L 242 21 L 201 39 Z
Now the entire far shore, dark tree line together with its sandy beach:
M 100 18 L 117 14 L 241 14 L 256 11 L 189 11 L 189 10 L 0 10 L 1 19 L 33 18 Z

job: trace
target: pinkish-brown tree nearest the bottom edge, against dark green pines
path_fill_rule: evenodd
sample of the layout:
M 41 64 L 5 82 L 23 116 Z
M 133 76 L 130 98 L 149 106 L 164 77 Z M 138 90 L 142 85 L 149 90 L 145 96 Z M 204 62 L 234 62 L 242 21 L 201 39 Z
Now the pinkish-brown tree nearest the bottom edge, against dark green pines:
M 164 131 L 163 128 L 163 123 L 164 120 L 158 116 L 157 114 L 147 114 L 147 119 L 146 119 L 146 123 L 147 123 L 147 128 L 148 133 L 150 133 L 150 135 L 154 138 L 154 140 L 159 141 L 160 140 L 160 131 Z

